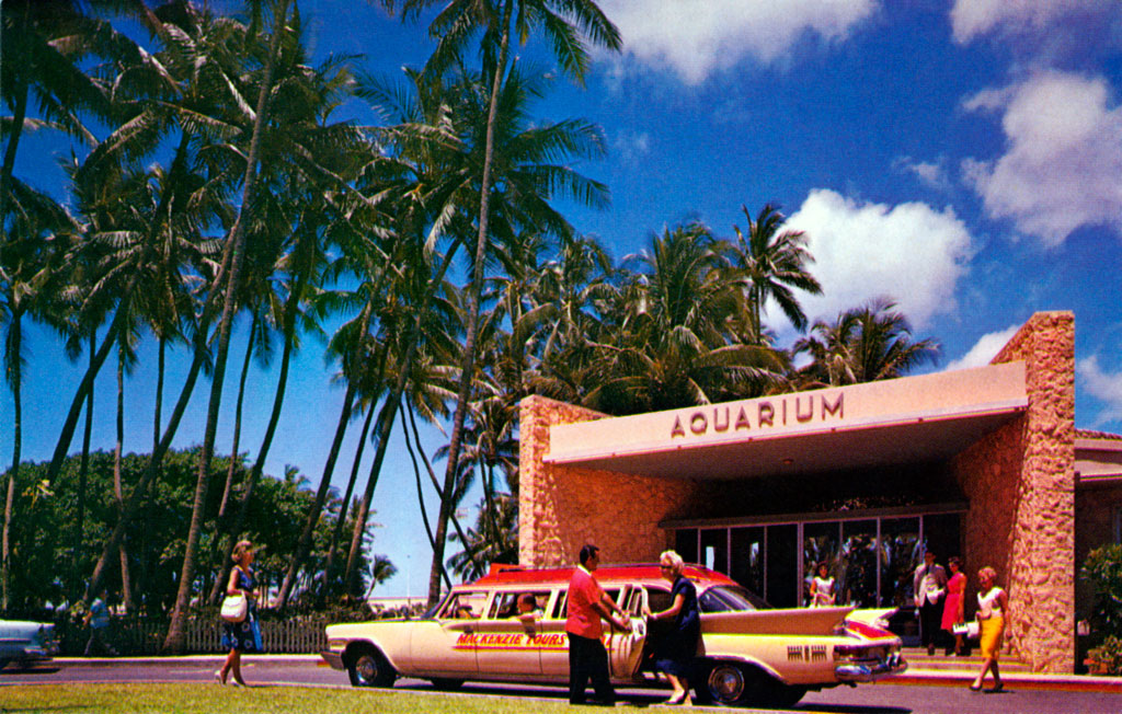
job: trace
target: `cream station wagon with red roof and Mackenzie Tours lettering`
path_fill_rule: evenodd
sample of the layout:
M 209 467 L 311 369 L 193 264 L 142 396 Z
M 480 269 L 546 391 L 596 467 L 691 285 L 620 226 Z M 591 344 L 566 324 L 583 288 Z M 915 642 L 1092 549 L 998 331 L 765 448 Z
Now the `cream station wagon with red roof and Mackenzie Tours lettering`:
M 465 680 L 564 685 L 569 643 L 564 633 L 571 568 L 493 566 L 453 587 L 415 620 L 333 624 L 322 657 L 346 669 L 355 686 L 389 687 L 398 676 L 454 688 Z M 702 702 L 790 706 L 810 689 L 872 681 L 907 665 L 901 641 L 879 625 L 890 611 L 853 608 L 771 610 L 720 573 L 688 565 L 698 591 L 702 646 L 696 692 Z M 605 566 L 596 571 L 605 591 L 631 614 L 632 632 L 605 625 L 611 679 L 617 686 L 660 686 L 643 605 L 670 604 L 670 583 L 657 565 Z M 519 596 L 536 610 L 517 616 Z M 660 622 L 657 625 L 668 623 Z

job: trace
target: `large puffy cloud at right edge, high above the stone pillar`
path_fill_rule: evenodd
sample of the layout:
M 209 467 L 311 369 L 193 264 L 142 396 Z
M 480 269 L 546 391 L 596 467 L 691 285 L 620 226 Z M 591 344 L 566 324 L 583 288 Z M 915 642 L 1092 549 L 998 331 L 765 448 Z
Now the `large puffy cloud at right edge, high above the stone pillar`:
M 963 105 L 1004 111 L 1004 156 L 962 165 L 991 217 L 1052 247 L 1080 225 L 1122 234 L 1122 108 L 1110 105 L 1104 78 L 1043 72 Z

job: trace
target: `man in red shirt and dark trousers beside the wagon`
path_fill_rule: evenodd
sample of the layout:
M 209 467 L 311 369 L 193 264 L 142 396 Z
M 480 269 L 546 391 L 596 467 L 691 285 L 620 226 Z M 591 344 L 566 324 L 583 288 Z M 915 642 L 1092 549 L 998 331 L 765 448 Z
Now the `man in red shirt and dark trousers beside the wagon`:
M 569 637 L 569 703 L 585 704 L 585 687 L 589 678 L 598 704 L 611 706 L 616 692 L 608 675 L 608 652 L 600 637 L 600 618 L 624 632 L 631 632 L 627 615 L 619 609 L 592 573 L 600 565 L 599 548 L 586 545 L 580 549 L 580 566 L 569 581 L 569 616 L 564 631 Z M 616 613 L 619 618 L 616 618 Z

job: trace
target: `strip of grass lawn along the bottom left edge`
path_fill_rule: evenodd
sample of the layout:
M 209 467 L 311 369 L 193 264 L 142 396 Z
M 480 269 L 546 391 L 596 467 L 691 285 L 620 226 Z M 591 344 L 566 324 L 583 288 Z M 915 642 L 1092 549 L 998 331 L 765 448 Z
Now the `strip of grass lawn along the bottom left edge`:
M 629 710 L 633 707 L 617 707 Z M 65 684 L 0 687 L 3 714 L 521 714 L 572 712 L 565 699 L 453 695 L 378 689 L 323 689 L 260 686 L 219 688 L 206 684 Z

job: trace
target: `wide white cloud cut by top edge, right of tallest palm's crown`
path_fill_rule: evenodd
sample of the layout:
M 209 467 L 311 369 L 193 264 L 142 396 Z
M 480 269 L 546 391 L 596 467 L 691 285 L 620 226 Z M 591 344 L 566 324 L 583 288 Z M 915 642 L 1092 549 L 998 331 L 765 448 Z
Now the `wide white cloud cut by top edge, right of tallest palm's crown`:
M 687 84 L 745 57 L 770 63 L 803 33 L 844 39 L 876 0 L 601 0 L 619 28 L 624 55 L 668 67 Z

